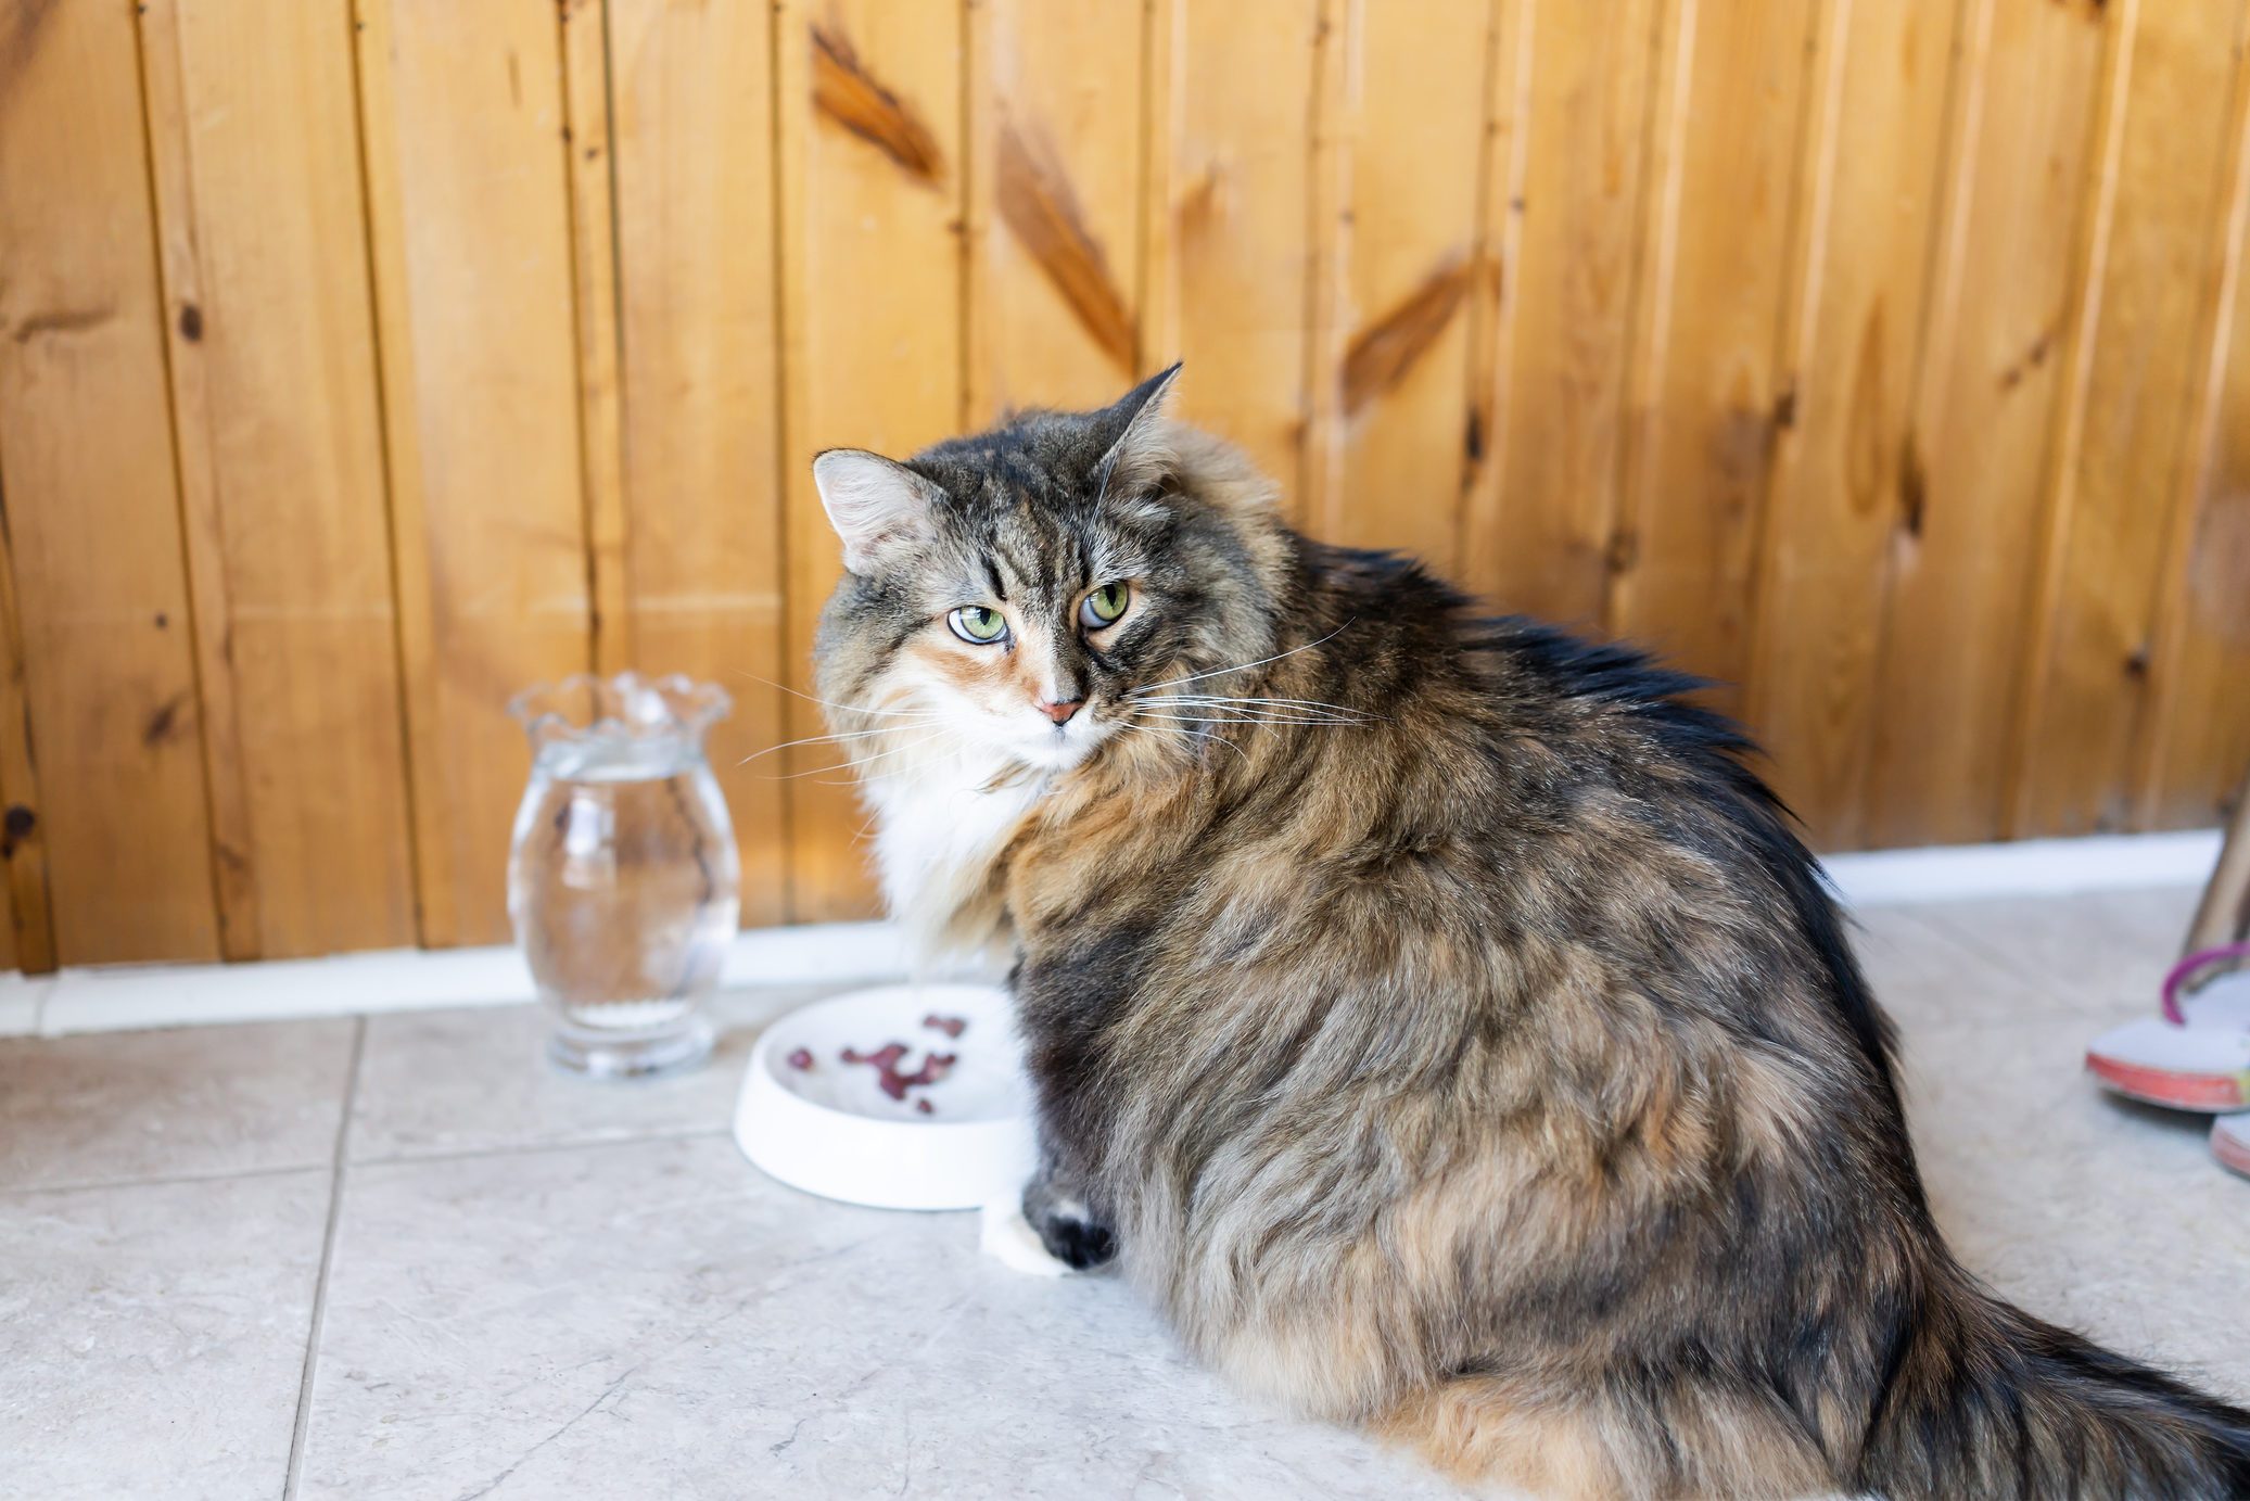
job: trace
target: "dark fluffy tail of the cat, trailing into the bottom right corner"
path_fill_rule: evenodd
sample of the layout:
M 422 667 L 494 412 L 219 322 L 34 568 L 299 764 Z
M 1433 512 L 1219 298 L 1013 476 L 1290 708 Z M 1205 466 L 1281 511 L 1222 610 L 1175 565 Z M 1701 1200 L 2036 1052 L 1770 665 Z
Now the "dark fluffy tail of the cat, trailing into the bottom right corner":
M 1951 1280 L 1951 1278 L 1948 1278 Z M 2250 1496 L 2250 1413 L 2032 1319 L 1962 1278 L 1892 1350 L 1856 1490 Z

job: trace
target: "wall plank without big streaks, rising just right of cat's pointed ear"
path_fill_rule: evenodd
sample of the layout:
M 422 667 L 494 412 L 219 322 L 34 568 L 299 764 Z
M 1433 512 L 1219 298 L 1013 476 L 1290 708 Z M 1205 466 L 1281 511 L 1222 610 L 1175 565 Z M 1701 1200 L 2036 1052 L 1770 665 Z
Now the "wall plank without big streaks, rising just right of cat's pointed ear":
M 1152 0 L 1143 371 L 1303 515 L 1321 0 Z M 1235 59 L 1256 56 L 1258 68 Z

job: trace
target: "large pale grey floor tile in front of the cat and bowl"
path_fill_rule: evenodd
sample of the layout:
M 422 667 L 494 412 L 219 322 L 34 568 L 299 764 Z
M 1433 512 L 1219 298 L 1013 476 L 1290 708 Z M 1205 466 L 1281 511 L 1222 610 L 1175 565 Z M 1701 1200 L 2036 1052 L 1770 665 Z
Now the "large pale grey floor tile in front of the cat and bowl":
M 351 1170 L 304 1496 L 1444 1496 L 1246 1409 L 1114 1278 L 729 1141 Z

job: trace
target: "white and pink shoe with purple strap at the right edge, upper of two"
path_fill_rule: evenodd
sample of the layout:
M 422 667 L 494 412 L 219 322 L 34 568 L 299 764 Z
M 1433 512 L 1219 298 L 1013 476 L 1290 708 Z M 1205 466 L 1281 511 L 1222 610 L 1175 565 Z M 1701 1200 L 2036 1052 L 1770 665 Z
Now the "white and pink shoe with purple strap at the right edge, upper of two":
M 2250 943 L 2189 954 L 2164 977 L 2164 1015 L 2095 1037 L 2086 1067 L 2102 1087 L 2171 1109 L 2250 1109 L 2250 970 L 2185 992 L 2189 979 L 2232 959 L 2250 959 Z

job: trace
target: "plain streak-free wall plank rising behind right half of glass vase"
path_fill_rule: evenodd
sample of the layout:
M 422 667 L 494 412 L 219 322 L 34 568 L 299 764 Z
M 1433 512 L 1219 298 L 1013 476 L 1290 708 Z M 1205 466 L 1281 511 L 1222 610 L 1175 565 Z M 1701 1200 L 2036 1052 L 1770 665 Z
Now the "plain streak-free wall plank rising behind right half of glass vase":
M 623 608 L 632 662 L 734 695 L 711 765 L 742 920 L 785 916 L 778 758 L 781 432 L 772 25 L 749 7 L 612 0 L 623 326 Z M 590 142 L 580 142 L 580 155 Z

